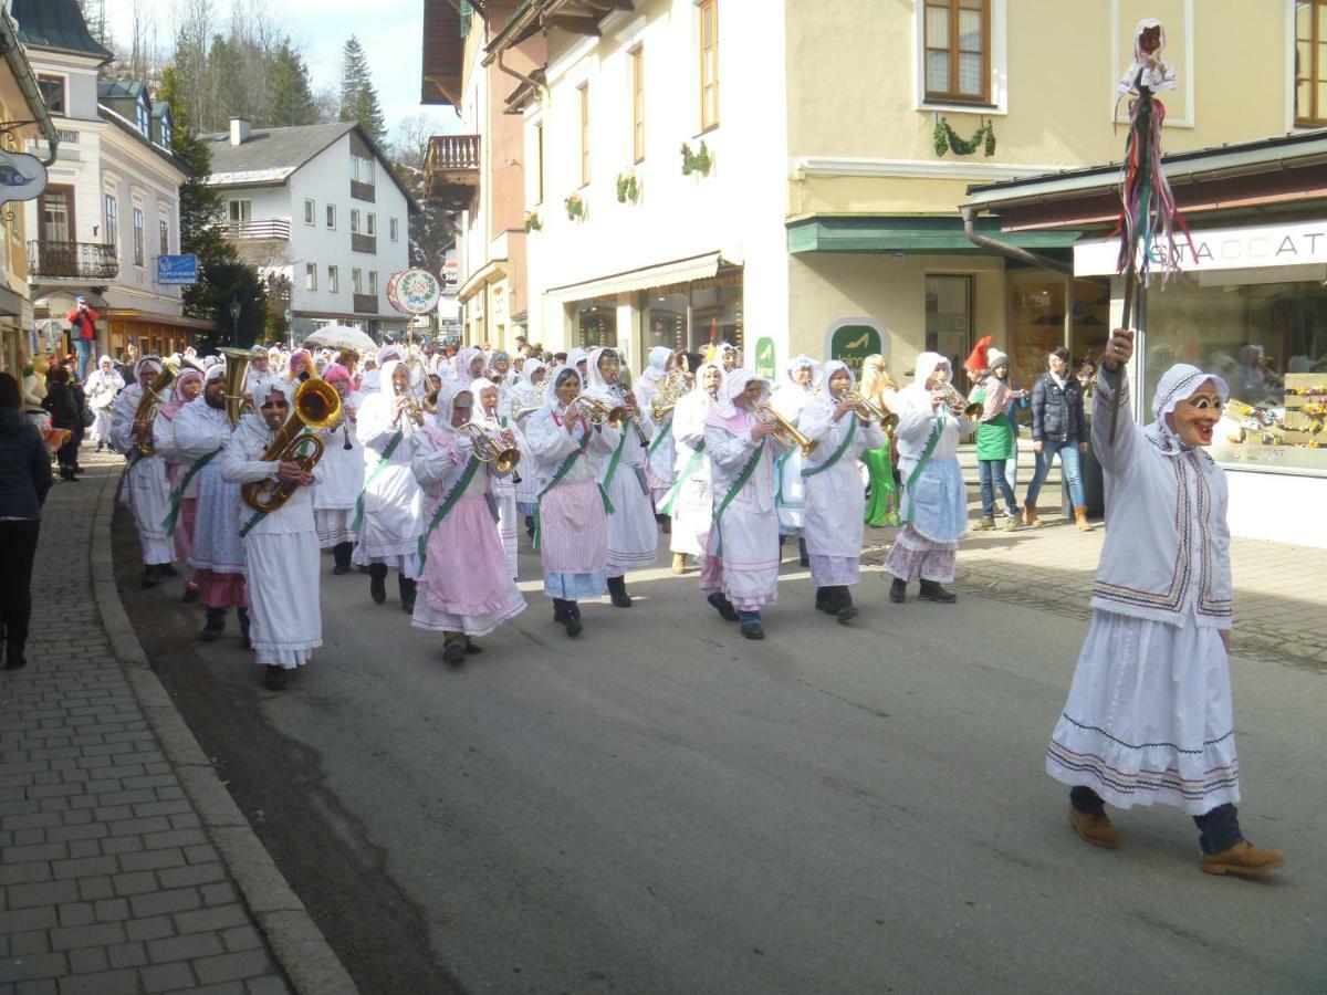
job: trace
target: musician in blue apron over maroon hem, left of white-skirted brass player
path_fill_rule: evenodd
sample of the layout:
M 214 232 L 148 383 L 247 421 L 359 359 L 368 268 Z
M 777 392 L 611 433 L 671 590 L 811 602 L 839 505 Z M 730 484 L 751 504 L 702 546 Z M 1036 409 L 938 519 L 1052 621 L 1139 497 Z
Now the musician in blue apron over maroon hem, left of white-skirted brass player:
M 249 397 L 268 385 L 269 381 L 259 379 Z M 207 622 L 199 635 L 207 642 L 219 638 L 226 630 L 226 613 L 234 608 L 239 617 L 242 645 L 248 649 L 244 540 L 235 527 L 243 501 L 240 486 L 222 476 L 222 455 L 230 438 L 226 366 L 216 364 L 207 371 L 202 397 L 182 407 L 175 417 L 175 451 L 188 462 L 180 494 L 194 487 L 198 495 L 188 566 L 190 578 L 198 585 L 207 610 Z

